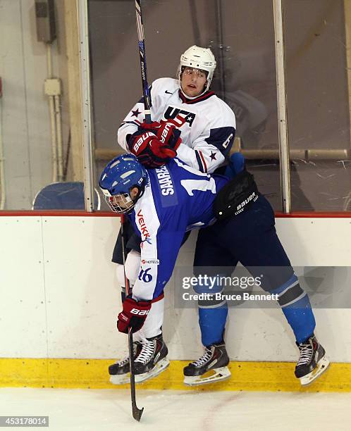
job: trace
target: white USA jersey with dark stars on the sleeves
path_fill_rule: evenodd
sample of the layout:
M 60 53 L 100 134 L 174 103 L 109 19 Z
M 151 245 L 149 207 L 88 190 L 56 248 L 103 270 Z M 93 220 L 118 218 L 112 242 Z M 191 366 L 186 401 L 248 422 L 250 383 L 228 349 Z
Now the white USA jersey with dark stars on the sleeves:
M 235 138 L 235 115 L 214 92 L 187 99 L 180 92 L 178 80 L 160 78 L 150 87 L 152 121 L 174 119 L 179 115 L 185 123 L 179 128 L 182 143 L 177 157 L 203 173 L 213 173 L 223 163 Z M 118 144 L 129 151 L 127 135 L 133 135 L 144 121 L 141 99 L 118 129 Z

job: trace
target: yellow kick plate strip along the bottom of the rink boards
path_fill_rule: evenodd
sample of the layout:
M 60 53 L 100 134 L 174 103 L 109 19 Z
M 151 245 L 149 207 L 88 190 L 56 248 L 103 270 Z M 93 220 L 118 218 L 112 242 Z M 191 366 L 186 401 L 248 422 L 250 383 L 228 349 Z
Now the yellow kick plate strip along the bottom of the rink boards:
M 106 359 L 0 358 L 0 387 L 52 387 L 82 389 L 126 389 L 129 385 L 109 382 Z M 295 378 L 295 363 L 231 362 L 230 379 L 189 387 L 183 384 L 187 361 L 171 361 L 164 373 L 137 385 L 138 389 L 179 389 L 192 391 L 284 391 L 351 392 L 351 364 L 332 363 L 312 385 L 302 387 Z

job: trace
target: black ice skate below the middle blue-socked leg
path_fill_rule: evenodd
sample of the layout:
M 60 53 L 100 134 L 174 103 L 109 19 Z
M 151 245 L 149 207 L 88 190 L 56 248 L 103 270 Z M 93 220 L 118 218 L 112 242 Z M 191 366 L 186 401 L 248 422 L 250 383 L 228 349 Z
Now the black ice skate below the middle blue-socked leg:
M 206 346 L 204 354 L 183 370 L 184 384 L 189 386 L 219 382 L 230 377 L 226 344 Z

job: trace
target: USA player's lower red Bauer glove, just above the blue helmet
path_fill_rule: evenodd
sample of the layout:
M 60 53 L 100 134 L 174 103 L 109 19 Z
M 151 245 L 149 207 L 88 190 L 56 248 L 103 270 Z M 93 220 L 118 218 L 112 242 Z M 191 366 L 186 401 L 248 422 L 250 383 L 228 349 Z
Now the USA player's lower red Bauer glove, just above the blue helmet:
M 176 157 L 177 151 L 163 144 L 152 132 L 138 130 L 128 139 L 130 152 L 147 168 L 159 168 Z

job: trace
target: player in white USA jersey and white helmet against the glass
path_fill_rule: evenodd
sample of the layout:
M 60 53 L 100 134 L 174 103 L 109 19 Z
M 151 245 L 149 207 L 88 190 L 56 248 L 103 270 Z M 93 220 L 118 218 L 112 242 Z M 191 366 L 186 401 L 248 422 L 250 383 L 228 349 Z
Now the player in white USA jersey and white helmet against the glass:
M 147 168 L 157 168 L 173 156 L 202 173 L 214 173 L 223 164 L 235 138 L 235 115 L 210 85 L 216 69 L 211 49 L 190 46 L 181 56 L 177 79 L 160 78 L 150 89 L 153 123 L 144 122 L 143 99 L 126 115 L 118 129 L 118 144 L 135 154 Z M 126 268 L 133 285 L 140 265 L 140 240 L 132 227 L 126 227 Z M 112 261 L 124 298 L 121 235 L 118 235 Z M 157 306 L 161 309 L 164 300 Z M 223 351 L 225 346 L 223 344 Z M 226 353 L 226 352 L 225 352 Z M 128 373 L 128 358 L 109 367 L 111 382 Z M 116 377 L 117 376 L 117 377 Z

